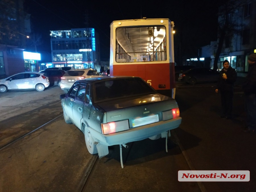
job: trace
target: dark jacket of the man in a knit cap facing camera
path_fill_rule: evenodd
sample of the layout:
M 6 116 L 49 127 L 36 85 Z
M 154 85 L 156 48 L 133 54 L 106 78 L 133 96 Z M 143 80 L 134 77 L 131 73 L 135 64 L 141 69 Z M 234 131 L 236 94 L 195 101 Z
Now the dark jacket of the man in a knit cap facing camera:
M 227 75 L 227 79 L 222 78 L 222 74 Z M 235 69 L 229 67 L 227 71 L 224 71 L 224 68 L 220 71 L 220 75 L 217 82 L 217 89 L 221 91 L 233 91 L 234 83 L 237 78 L 237 73 Z

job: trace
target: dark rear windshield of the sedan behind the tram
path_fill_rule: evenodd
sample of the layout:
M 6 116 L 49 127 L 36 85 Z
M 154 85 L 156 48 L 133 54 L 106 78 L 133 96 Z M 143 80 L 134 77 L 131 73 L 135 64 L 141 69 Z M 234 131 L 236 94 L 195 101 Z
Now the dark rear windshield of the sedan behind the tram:
M 95 83 L 95 102 L 118 97 L 154 94 L 156 91 L 140 78 L 110 79 Z

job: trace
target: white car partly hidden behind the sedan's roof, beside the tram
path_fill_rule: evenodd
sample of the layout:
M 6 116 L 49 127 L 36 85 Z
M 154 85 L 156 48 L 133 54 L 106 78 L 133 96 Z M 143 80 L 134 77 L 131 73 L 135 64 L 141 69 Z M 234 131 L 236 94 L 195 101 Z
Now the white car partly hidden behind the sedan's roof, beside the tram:
M 94 69 L 71 69 L 65 71 L 66 73 L 60 78 L 60 88 L 65 92 L 72 87 L 74 82 L 81 79 L 92 78 L 92 77 L 102 77 Z

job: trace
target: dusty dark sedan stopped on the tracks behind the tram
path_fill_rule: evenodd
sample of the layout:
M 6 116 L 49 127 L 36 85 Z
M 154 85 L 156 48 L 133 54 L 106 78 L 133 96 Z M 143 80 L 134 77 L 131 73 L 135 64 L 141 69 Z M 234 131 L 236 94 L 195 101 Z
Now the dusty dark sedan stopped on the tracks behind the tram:
M 167 141 L 168 131 L 181 123 L 175 99 L 140 77 L 79 80 L 60 99 L 65 122 L 84 133 L 88 151 L 100 158 L 108 154 L 108 146 L 146 138 Z

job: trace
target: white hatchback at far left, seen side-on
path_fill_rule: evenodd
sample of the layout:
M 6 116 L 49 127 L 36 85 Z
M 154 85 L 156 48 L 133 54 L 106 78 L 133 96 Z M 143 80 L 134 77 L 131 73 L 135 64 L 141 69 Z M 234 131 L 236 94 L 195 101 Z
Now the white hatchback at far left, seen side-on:
M 36 89 L 37 91 L 43 91 L 47 87 L 49 87 L 48 77 L 38 72 L 23 72 L 6 79 L 0 79 L 0 93 L 12 89 Z

